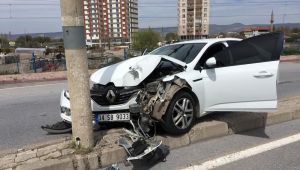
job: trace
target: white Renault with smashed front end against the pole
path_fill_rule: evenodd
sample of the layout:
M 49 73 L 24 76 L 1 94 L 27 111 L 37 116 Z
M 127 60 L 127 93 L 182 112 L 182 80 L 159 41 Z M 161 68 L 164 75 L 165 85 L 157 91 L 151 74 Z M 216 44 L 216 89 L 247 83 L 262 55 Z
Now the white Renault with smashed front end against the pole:
M 164 109 L 152 116 L 168 133 L 185 133 L 196 117 L 210 112 L 274 111 L 282 49 L 282 33 L 245 40 L 201 39 L 160 47 L 102 68 L 90 77 L 94 121 L 130 120 L 129 106 L 136 103 L 140 90 L 158 80 L 174 79 L 180 79 L 182 87 L 173 89 Z M 61 108 L 62 119 L 71 122 L 67 91 L 61 94 Z

